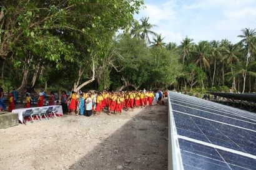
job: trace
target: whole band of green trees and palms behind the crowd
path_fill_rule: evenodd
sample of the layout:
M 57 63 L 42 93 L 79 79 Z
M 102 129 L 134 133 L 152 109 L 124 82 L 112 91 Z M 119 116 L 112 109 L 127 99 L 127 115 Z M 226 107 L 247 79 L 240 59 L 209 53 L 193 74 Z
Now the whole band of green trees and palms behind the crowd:
M 5 89 L 256 91 L 255 29 L 242 29 L 236 44 L 184 37 L 177 45 L 153 32 L 149 17 L 134 19 L 140 0 L 9 0 L 0 7 Z

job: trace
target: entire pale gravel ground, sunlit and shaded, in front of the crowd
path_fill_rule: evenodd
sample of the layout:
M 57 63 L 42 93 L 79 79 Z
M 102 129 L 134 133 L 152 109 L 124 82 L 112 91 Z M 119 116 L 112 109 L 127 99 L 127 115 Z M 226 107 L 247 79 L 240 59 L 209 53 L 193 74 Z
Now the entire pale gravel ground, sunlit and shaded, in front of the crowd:
M 0 169 L 167 169 L 165 105 L 0 130 Z

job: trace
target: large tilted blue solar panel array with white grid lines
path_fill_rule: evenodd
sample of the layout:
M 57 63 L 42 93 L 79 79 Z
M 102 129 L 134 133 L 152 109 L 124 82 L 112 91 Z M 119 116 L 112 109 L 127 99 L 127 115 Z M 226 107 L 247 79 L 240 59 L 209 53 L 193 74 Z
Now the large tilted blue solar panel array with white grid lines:
M 254 113 L 169 92 L 169 117 L 179 169 L 256 169 Z

